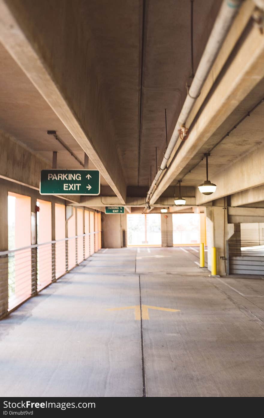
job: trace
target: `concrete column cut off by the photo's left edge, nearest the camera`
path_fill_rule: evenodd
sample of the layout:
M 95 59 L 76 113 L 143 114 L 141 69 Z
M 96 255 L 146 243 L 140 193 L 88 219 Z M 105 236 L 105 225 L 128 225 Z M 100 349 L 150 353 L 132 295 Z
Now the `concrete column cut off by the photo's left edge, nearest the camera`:
M 8 250 L 8 189 L 0 186 L 0 251 Z M 8 255 L 0 256 L 0 317 L 8 312 Z

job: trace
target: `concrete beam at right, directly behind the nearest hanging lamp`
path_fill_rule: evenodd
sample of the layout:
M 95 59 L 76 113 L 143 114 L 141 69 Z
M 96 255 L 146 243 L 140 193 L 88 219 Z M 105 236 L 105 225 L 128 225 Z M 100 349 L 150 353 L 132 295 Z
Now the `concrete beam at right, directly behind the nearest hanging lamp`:
M 229 196 L 236 194 L 233 199 L 236 203 L 241 203 L 242 198 L 239 198 L 237 194 L 240 191 L 246 189 L 252 189 L 255 187 L 262 186 L 264 184 L 264 145 L 259 146 L 253 150 L 250 154 L 245 155 L 238 161 L 233 163 L 231 166 L 221 171 L 218 175 L 214 176 L 214 183 L 217 185 L 217 189 L 214 194 L 205 196 L 201 194 L 199 190 L 196 191 L 196 202 L 198 205 L 205 204 L 212 199 L 219 199 L 223 196 Z M 261 197 L 261 190 L 256 191 L 255 196 L 259 193 Z M 243 199 L 246 196 L 251 196 L 251 192 L 247 191 L 244 194 Z M 252 193 L 253 198 L 254 193 Z M 263 198 L 261 198 L 263 200 Z M 238 206 L 231 203 L 231 206 Z M 249 203 L 249 202 L 248 202 Z

